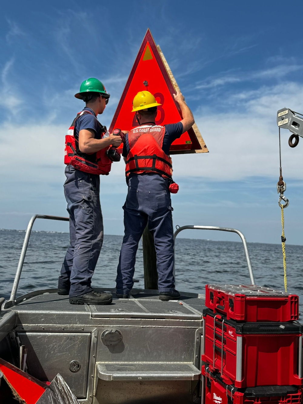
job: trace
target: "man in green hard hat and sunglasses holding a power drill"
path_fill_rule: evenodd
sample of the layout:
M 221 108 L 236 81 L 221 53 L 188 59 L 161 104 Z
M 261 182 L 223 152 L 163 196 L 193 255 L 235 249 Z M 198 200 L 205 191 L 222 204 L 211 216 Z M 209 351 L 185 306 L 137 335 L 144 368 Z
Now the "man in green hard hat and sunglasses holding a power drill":
M 65 137 L 64 193 L 69 213 L 70 245 L 62 264 L 58 294 L 69 295 L 71 304 L 109 304 L 112 295 L 95 292 L 90 286 L 103 242 L 100 177 L 108 175 L 112 154 L 120 154 L 121 137 L 109 134 L 97 120 L 109 94 L 96 78 L 84 80 L 75 97 L 85 102 Z

